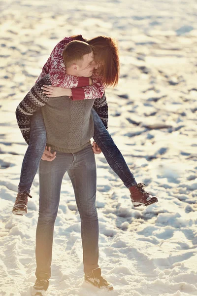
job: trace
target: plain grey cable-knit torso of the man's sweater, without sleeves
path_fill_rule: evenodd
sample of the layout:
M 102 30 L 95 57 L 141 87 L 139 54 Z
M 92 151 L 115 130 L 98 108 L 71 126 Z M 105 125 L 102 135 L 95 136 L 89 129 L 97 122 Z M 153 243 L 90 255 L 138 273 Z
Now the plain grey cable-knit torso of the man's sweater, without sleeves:
M 91 114 L 94 101 L 71 101 L 67 96 L 49 98 L 41 109 L 47 146 L 65 153 L 74 153 L 85 148 L 94 136 Z

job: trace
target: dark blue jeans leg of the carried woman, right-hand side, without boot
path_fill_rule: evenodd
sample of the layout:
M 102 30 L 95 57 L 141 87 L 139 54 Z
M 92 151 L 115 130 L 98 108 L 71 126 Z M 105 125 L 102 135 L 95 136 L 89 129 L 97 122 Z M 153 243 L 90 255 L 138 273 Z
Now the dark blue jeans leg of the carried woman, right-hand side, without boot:
M 108 164 L 112 170 L 118 175 L 123 181 L 127 188 L 136 185 L 136 181 L 131 173 L 122 153 L 115 145 L 112 137 L 102 123 L 97 112 L 92 109 L 92 115 L 95 123 L 95 135 L 94 140 L 102 150 Z

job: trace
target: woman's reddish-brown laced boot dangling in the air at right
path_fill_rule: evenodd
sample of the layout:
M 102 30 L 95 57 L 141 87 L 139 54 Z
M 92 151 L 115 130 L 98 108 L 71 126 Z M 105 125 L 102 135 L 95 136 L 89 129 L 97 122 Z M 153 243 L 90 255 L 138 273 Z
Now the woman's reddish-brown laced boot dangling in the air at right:
M 130 187 L 131 192 L 131 202 L 134 207 L 139 206 L 149 206 L 152 205 L 155 202 L 158 202 L 158 199 L 156 196 L 152 196 L 150 193 L 146 192 L 143 187 L 146 185 L 143 183 L 139 183 L 137 185 L 134 185 Z

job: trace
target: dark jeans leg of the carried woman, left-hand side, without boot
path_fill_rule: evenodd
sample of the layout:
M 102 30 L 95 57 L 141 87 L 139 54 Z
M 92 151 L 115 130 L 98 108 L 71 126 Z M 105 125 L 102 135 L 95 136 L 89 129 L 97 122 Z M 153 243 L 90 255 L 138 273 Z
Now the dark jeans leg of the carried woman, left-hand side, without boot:
M 31 119 L 30 144 L 25 153 L 21 168 L 19 192 L 30 193 L 33 179 L 46 146 L 46 130 L 41 110 L 36 111 Z

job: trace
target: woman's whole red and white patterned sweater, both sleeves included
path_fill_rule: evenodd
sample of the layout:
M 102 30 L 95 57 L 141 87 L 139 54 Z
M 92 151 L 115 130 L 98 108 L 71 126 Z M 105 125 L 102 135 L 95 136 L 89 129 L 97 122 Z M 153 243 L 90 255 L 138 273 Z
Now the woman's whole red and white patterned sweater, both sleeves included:
M 101 98 L 104 93 L 104 88 L 99 76 L 93 75 L 93 84 L 89 85 L 88 77 L 77 77 L 66 74 L 66 66 L 64 64 L 62 52 L 66 44 L 72 40 L 75 40 L 75 38 L 65 37 L 54 47 L 36 82 L 45 75 L 50 74 L 52 85 L 72 88 L 71 91 L 74 101 Z M 84 40 L 82 36 L 81 40 Z

